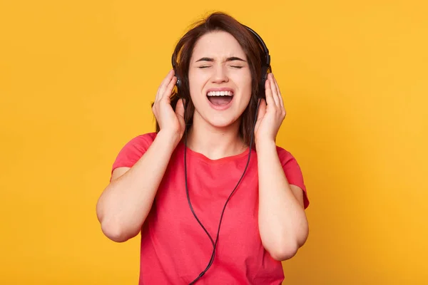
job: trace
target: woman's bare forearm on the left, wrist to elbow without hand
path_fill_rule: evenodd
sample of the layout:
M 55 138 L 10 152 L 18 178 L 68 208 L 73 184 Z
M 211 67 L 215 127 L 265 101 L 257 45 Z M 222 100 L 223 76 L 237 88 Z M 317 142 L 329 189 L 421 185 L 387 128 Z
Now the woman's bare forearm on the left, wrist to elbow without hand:
M 176 145 L 170 135 L 158 133 L 141 159 L 103 191 L 97 215 L 107 237 L 124 242 L 140 232 Z

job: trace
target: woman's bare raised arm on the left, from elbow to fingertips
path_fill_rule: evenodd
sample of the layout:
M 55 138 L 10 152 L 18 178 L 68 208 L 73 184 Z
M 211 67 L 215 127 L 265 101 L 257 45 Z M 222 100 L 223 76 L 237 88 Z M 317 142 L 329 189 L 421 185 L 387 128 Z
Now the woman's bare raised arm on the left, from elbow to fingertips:
M 113 171 L 110 184 L 98 199 L 96 214 L 101 229 L 115 242 L 125 242 L 140 232 L 170 157 L 183 136 L 183 100 L 178 100 L 175 111 L 170 105 L 176 82 L 171 70 L 156 93 L 152 110 L 161 130 L 155 140 L 133 167 Z

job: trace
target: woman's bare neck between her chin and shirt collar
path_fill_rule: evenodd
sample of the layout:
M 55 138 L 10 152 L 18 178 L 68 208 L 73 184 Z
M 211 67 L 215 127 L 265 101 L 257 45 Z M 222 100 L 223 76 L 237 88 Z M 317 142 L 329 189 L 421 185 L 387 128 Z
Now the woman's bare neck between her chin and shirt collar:
M 188 130 L 187 145 L 211 160 L 238 155 L 247 148 L 240 138 L 239 125 L 237 120 L 228 127 L 216 128 L 195 113 L 192 127 Z

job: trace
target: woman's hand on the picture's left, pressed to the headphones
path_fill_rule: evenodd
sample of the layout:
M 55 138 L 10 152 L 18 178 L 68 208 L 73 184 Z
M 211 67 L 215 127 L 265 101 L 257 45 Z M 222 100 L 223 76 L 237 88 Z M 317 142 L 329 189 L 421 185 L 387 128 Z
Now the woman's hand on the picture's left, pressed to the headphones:
M 160 132 L 172 136 L 178 142 L 185 130 L 183 99 L 178 100 L 175 112 L 170 104 L 170 95 L 173 91 L 177 78 L 171 70 L 163 79 L 156 93 L 152 111 L 158 121 Z

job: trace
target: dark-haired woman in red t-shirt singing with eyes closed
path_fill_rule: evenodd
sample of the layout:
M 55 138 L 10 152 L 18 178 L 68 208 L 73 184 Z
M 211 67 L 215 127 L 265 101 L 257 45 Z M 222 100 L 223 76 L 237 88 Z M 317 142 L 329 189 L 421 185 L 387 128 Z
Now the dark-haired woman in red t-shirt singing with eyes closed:
M 195 25 L 158 88 L 156 132 L 113 163 L 97 215 L 115 242 L 141 233 L 140 284 L 281 284 L 305 243 L 309 201 L 275 145 L 285 108 L 263 44 L 227 14 Z

